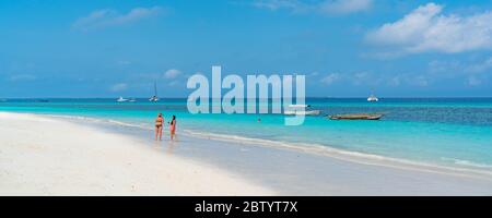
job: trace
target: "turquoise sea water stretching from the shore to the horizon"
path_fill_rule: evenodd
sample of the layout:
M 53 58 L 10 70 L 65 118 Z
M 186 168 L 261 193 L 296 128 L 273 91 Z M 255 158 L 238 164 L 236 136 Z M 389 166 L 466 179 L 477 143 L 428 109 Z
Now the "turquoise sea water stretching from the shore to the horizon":
M 0 99 L 0 111 L 93 118 L 152 129 L 157 112 L 178 120 L 178 133 L 329 147 L 402 160 L 492 171 L 492 98 L 308 98 L 320 116 L 300 126 L 282 114 L 190 114 L 186 99 Z M 383 112 L 379 121 L 332 121 L 326 114 Z M 257 120 L 261 119 L 261 122 Z M 116 121 L 116 122 L 115 122 Z

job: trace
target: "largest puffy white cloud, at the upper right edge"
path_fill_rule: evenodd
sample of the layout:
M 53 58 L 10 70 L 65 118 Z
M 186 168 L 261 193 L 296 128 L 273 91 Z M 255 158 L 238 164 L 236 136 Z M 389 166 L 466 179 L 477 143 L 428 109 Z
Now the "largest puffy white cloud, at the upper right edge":
M 470 16 L 443 15 L 443 7 L 427 3 L 394 23 L 370 32 L 366 39 L 402 53 L 492 49 L 492 12 Z

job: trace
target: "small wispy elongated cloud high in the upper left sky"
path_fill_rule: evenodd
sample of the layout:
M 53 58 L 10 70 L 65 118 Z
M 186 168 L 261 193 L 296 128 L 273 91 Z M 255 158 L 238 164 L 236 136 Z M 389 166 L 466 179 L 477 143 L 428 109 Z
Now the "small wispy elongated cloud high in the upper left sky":
M 90 31 L 94 28 L 125 25 L 156 15 L 161 11 L 162 9 L 160 7 L 134 8 L 126 14 L 121 14 L 118 11 L 112 9 L 97 10 L 93 11 L 84 17 L 78 19 L 72 24 L 72 27 L 81 31 Z

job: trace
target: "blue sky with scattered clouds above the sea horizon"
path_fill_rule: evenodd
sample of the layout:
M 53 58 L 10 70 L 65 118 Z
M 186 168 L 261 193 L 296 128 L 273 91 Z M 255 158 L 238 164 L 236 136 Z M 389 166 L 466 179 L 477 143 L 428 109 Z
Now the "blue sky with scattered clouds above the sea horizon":
M 184 97 L 305 74 L 316 97 L 492 96 L 492 0 L 0 1 L 0 97 Z

